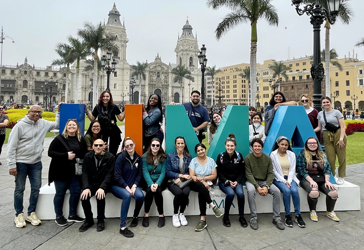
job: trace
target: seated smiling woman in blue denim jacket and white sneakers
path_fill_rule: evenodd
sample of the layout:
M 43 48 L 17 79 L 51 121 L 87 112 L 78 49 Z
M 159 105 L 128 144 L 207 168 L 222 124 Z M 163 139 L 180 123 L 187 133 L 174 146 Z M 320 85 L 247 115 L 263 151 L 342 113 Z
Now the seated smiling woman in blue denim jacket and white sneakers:
M 177 136 L 174 140 L 174 145 L 176 151 L 169 153 L 167 156 L 166 172 L 169 178 L 168 189 L 174 194 L 172 223 L 173 226 L 180 227 L 181 225 L 187 226 L 188 224 L 183 213 L 186 209 L 191 189 L 188 186 L 181 189 L 175 184 L 180 183 L 181 178 L 185 180 L 191 179 L 188 166 L 192 157 L 183 136 Z

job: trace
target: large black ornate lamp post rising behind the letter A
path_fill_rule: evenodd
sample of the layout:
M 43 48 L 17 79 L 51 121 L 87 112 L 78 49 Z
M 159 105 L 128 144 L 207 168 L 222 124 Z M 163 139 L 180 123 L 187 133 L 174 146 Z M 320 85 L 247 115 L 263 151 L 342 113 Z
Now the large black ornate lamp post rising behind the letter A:
M 325 6 L 319 4 L 316 0 L 315 4 L 307 4 L 303 9 L 299 8 L 302 0 L 292 0 L 292 5 L 296 7 L 298 15 L 306 13 L 310 15 L 311 24 L 313 26 L 313 64 L 311 66 L 311 76 L 313 79 L 313 107 L 317 111 L 321 111 L 321 80 L 324 78 L 324 67 L 321 63 L 321 47 L 320 47 L 320 31 L 321 24 L 324 20 L 328 20 L 330 24 L 336 21 L 336 15 L 339 12 L 340 0 L 327 0 L 329 11 Z

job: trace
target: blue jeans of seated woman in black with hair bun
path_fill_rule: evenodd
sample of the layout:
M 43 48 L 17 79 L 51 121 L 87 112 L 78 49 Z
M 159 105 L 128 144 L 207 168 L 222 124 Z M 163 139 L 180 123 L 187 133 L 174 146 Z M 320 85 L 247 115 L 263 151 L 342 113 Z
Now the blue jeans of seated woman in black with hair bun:
M 243 185 L 239 183 L 235 188 L 232 188 L 230 186 L 225 187 L 225 185 L 222 182 L 219 182 L 218 187 L 220 187 L 220 190 L 226 194 L 224 216 L 229 216 L 230 207 L 232 201 L 234 200 L 235 193 L 239 208 L 239 216 L 244 216 L 245 197 L 244 197 Z

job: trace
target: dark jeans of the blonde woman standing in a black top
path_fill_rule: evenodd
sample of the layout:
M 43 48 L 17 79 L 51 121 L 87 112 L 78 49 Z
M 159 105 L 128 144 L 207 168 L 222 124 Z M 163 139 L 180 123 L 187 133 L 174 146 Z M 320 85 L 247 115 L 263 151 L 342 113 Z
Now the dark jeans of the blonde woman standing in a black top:
M 63 216 L 63 203 L 67 189 L 70 189 L 70 213 L 69 216 L 77 214 L 77 205 L 81 192 L 80 179 L 76 176 L 70 177 L 67 181 L 54 181 L 56 194 L 54 195 L 53 203 L 56 212 L 56 218 Z

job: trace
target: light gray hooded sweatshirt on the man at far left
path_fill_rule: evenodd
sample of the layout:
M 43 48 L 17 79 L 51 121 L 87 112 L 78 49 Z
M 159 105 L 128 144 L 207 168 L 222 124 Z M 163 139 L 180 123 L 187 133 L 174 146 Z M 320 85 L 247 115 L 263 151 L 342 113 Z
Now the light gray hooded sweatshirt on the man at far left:
M 37 123 L 34 123 L 34 121 L 29 120 L 29 115 L 18 120 L 11 129 L 7 143 L 6 160 L 9 169 L 16 168 L 17 162 L 27 164 L 40 162 L 47 131 L 59 127 L 60 113 L 58 112 L 54 122 L 39 119 Z

